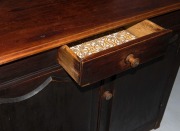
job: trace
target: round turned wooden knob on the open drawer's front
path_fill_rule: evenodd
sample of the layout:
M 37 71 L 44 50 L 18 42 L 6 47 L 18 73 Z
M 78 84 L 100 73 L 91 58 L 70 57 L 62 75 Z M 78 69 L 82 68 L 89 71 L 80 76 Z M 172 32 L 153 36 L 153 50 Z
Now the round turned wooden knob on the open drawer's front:
M 131 64 L 131 67 L 137 67 L 139 65 L 139 58 L 134 58 L 133 54 L 130 54 L 126 58 L 126 62 Z

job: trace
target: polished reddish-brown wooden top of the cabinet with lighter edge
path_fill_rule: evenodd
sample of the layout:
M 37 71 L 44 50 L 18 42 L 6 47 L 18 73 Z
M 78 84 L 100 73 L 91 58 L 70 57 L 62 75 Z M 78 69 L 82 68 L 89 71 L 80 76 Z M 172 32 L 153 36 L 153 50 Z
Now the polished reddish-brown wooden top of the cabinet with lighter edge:
M 1 0 L 0 65 L 178 9 L 179 0 Z

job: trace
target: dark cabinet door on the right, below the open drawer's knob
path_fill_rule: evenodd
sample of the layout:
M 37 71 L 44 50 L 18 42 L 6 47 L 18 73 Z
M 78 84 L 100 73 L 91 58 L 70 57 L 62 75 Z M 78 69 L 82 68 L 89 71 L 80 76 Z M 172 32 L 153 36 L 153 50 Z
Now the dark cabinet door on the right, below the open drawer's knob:
M 170 58 L 171 53 L 117 76 L 110 87 L 113 99 L 108 131 L 157 128 L 171 90 Z

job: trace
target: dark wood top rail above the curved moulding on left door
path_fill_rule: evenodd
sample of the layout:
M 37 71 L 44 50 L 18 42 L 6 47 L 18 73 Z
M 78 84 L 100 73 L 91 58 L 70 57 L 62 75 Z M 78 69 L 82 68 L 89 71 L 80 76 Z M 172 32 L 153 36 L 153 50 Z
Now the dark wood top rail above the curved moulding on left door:
M 0 85 L 0 96 L 1 98 L 14 98 L 29 94 L 35 91 L 40 85 L 47 85 L 49 81 L 52 81 L 54 76 L 62 76 L 59 70 L 59 67 L 50 67 L 46 70 L 40 70 L 37 73 L 27 74 L 20 78 L 7 81 L 5 84 Z M 27 85 L 27 83 L 29 84 Z M 39 91 L 37 89 L 35 92 L 38 93 Z

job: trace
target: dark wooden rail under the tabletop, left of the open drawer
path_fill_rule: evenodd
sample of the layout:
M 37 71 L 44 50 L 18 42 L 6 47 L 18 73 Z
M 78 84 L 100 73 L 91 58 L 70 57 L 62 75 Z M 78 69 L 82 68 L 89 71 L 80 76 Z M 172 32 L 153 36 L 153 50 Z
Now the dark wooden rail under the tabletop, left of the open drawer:
M 8 82 L 37 74 L 55 66 L 61 68 L 57 62 L 57 49 L 1 65 L 0 73 L 3 75 L 0 75 L 0 88 L 2 88 L 2 85 L 8 84 Z

